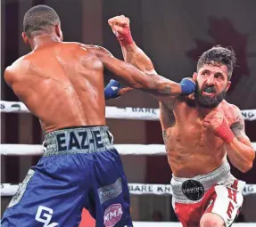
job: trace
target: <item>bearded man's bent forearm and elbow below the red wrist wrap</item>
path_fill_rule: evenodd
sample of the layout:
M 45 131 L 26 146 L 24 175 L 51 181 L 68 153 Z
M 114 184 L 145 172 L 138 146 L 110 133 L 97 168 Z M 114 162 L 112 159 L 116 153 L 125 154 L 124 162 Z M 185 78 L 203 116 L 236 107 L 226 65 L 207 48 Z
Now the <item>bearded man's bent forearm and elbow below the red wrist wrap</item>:
M 232 142 L 227 143 L 226 148 L 229 160 L 240 171 L 245 173 L 252 168 L 255 151 L 251 146 L 234 138 Z

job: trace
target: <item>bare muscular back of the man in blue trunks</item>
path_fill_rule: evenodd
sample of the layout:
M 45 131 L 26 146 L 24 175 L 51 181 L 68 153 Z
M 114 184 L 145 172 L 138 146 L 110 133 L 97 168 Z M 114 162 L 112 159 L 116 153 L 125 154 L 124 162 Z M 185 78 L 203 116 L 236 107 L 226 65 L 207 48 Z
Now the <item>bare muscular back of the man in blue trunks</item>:
M 103 64 L 90 46 L 54 43 L 15 61 L 12 90 L 40 119 L 45 132 L 105 125 Z

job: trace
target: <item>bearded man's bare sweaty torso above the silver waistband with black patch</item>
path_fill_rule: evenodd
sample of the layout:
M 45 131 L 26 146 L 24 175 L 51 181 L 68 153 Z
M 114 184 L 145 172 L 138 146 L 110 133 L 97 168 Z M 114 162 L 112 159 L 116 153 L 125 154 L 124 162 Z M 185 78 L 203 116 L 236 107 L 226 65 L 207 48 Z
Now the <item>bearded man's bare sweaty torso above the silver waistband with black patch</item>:
M 173 110 L 168 104 L 160 104 L 161 127 L 169 166 L 175 176 L 194 177 L 208 174 L 226 160 L 224 142 L 209 129 L 202 126 L 204 116 L 186 101 L 176 101 Z M 231 125 L 227 101 L 219 104 L 227 124 Z

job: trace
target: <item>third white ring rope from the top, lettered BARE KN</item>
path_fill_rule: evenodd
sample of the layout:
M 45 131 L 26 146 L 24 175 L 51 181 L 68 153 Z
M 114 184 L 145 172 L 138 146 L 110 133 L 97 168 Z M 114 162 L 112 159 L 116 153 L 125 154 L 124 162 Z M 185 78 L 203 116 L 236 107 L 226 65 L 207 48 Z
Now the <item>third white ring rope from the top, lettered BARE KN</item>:
M 21 184 L 21 183 L 20 183 Z M 2 183 L 1 196 L 13 196 L 18 191 L 20 184 Z M 172 195 L 170 184 L 128 183 L 129 192 L 132 195 Z M 256 184 L 246 184 L 243 195 L 256 193 Z

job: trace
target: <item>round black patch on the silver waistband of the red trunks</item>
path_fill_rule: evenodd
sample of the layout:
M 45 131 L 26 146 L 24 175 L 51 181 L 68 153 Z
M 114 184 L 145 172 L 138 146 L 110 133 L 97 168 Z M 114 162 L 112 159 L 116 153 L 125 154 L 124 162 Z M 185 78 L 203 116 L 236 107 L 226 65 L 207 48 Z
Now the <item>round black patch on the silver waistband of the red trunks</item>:
M 202 199 L 204 194 L 202 183 L 194 180 L 187 180 L 186 182 L 183 182 L 181 188 L 186 198 L 193 201 Z

